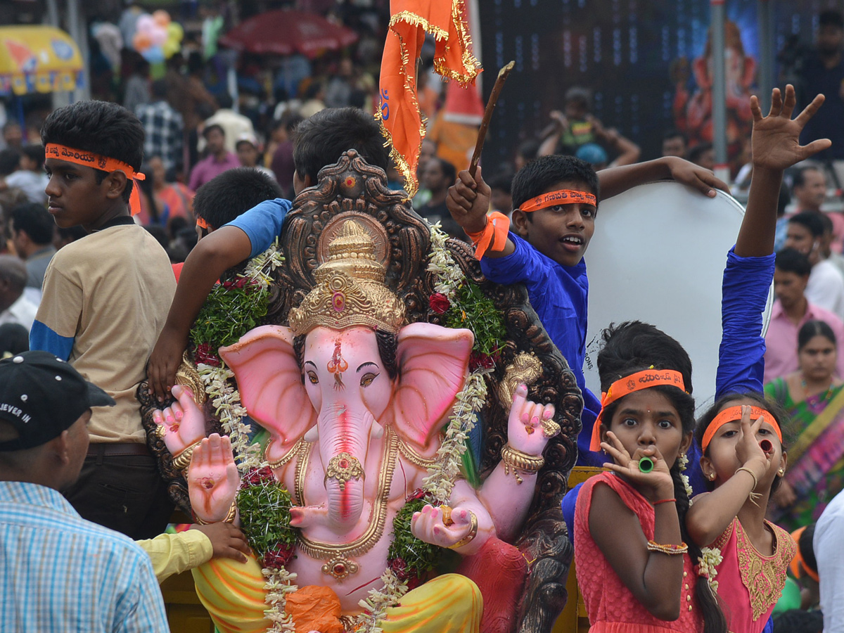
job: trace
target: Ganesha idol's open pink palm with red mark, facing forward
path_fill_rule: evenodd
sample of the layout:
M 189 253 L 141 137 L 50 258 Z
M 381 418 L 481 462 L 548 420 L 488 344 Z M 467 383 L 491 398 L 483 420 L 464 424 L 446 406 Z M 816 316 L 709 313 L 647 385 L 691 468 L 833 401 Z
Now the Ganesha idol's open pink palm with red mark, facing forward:
M 187 470 L 187 490 L 194 515 L 201 522 L 234 519 L 234 503 L 241 475 L 228 437 L 212 433 L 193 450 Z

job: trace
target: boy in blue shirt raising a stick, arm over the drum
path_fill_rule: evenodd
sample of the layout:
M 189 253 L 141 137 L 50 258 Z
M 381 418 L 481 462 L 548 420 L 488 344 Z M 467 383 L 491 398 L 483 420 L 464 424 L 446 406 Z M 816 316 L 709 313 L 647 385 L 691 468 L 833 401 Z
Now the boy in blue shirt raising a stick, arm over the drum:
M 595 230 L 601 192 L 613 196 L 641 182 L 674 178 L 715 196 L 711 187 L 727 190 L 711 171 L 695 169 L 680 159 L 659 159 L 598 174 L 574 156 L 543 156 L 518 171 L 512 184 L 511 233 L 502 250 L 478 253 L 481 270 L 498 284 L 522 283 L 531 306 L 560 349 L 583 393 L 582 431 L 577 438 L 579 465 L 599 466 L 601 453 L 589 451 L 592 425 L 601 403 L 586 388 L 587 296 L 589 282 L 583 255 Z M 609 191 L 609 193 L 608 193 Z M 449 189 L 446 206 L 467 234 L 487 226 L 490 187 L 478 170 L 475 178 L 461 171 Z

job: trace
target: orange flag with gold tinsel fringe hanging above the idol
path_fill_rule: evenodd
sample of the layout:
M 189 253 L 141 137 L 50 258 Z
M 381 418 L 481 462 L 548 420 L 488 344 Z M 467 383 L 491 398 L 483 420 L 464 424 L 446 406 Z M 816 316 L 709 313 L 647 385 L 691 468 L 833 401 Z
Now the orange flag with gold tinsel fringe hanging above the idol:
M 376 119 L 392 160 L 413 197 L 418 188 L 416 165 L 425 138 L 425 123 L 416 100 L 416 60 L 425 34 L 436 42 L 434 69 L 460 84 L 473 84 L 480 72 L 469 50 L 471 41 L 463 0 L 390 0 L 390 28 L 381 60 L 380 107 Z

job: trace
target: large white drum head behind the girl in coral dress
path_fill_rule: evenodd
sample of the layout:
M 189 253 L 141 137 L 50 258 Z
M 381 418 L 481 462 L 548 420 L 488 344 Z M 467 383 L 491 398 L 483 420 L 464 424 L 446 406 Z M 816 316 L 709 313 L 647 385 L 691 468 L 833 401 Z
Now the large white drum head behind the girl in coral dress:
M 721 343 L 721 282 L 744 208 L 676 182 L 652 182 L 598 207 L 587 251 L 589 324 L 583 373 L 598 397 L 601 331 L 639 320 L 676 338 L 692 360 L 698 411 L 712 403 Z M 763 335 L 773 288 L 763 315 Z

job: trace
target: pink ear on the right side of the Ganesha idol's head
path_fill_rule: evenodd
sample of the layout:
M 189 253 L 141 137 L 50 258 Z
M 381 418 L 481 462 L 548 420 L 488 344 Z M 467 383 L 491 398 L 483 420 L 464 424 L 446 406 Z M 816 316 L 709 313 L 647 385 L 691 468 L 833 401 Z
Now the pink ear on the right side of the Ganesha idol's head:
M 425 447 L 466 381 L 471 330 L 411 323 L 398 333 L 398 386 L 392 418 L 398 433 Z

